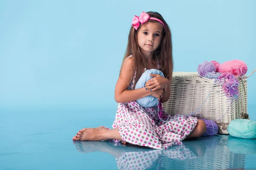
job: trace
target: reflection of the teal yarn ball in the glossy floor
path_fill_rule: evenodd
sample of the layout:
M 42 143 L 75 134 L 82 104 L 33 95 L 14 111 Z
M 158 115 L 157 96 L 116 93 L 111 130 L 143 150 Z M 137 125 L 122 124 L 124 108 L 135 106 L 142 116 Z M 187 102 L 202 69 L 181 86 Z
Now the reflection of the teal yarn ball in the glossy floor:
M 256 140 L 230 137 L 227 142 L 227 147 L 233 153 L 246 155 L 256 154 Z

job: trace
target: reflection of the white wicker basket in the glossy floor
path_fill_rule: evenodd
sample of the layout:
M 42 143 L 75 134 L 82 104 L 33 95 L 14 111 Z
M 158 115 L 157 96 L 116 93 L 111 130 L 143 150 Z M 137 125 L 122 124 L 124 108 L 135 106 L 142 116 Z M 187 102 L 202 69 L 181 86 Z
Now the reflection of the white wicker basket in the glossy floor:
M 208 148 L 203 157 L 175 160 L 163 157 L 162 167 L 166 170 L 212 170 L 245 167 L 245 154 L 232 153 L 227 147 L 228 137 L 218 138 L 212 149 Z

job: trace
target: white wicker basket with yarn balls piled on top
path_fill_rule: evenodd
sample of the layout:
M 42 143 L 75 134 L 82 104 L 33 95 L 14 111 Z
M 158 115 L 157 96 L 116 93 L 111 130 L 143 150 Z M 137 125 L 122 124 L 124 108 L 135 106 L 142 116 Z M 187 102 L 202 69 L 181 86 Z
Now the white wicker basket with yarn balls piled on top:
M 171 96 L 168 102 L 163 103 L 163 108 L 172 116 L 190 114 L 198 110 L 194 116 L 214 120 L 217 124 L 228 124 L 234 119 L 243 119 L 247 116 L 247 78 L 239 77 L 239 82 L 241 99 L 231 101 L 214 79 L 199 77 L 197 72 L 174 72 Z M 227 132 L 219 130 L 219 133 Z

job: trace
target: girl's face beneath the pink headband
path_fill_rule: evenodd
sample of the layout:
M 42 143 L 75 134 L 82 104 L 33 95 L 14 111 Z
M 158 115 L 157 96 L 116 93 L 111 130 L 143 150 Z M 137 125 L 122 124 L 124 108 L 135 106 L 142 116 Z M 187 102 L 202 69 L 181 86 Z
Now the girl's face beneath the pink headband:
M 138 43 L 142 54 L 153 53 L 162 40 L 163 26 L 160 23 L 144 23 L 137 34 Z

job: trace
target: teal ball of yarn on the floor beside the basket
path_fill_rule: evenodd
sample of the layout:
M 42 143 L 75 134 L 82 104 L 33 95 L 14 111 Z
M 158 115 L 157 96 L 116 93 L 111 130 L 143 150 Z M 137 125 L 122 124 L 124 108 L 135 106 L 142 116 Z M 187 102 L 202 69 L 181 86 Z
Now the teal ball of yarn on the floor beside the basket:
M 256 121 L 235 119 L 227 126 L 227 132 L 236 138 L 256 139 Z

